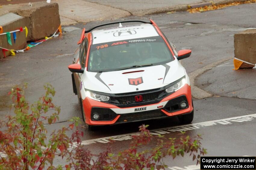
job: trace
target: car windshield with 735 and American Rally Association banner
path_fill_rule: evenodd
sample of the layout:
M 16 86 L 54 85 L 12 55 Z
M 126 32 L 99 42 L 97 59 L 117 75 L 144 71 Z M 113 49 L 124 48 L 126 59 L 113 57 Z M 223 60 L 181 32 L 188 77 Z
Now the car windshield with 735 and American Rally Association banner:
M 147 67 L 173 61 L 173 55 L 160 36 L 93 44 L 88 71 L 107 72 Z

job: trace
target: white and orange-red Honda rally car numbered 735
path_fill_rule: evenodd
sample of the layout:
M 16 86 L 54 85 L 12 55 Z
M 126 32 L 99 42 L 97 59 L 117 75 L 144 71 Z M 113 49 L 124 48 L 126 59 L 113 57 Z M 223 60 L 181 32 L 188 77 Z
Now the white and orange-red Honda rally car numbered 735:
M 127 22 L 139 24 L 121 25 Z M 193 120 L 189 77 L 179 61 L 191 50 L 176 52 L 154 21 L 84 28 L 78 44 L 68 68 L 89 129 L 176 115 Z

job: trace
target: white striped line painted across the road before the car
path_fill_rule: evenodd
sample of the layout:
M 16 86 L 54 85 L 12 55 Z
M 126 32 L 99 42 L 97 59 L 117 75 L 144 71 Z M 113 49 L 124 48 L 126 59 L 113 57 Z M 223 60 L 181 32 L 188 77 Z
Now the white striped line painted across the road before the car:
M 150 130 L 150 133 L 153 135 L 162 135 L 167 134 L 170 132 L 177 132 L 177 131 L 187 131 L 187 130 L 195 130 L 200 129 L 202 127 L 208 127 L 208 126 L 214 126 L 214 125 L 228 125 L 232 124 L 231 122 L 245 122 L 245 121 L 251 121 L 254 118 L 256 118 L 256 114 L 251 115 L 244 115 L 244 116 L 237 116 L 233 118 L 225 118 L 220 120 L 214 120 L 214 121 L 206 121 L 206 122 L 200 122 L 200 123 L 194 123 L 194 124 L 186 124 L 186 125 L 180 125 L 180 126 L 174 126 L 174 127 L 168 127 L 168 128 L 161 128 L 161 129 L 154 129 Z M 129 140 L 132 139 L 132 136 L 139 135 L 139 132 L 136 133 L 127 133 L 122 135 L 116 135 L 116 136 L 108 136 L 98 139 L 89 139 L 82 142 L 82 145 L 90 145 L 90 144 L 97 144 L 97 143 L 108 143 L 108 139 L 116 140 L 116 141 L 123 141 L 123 140 Z

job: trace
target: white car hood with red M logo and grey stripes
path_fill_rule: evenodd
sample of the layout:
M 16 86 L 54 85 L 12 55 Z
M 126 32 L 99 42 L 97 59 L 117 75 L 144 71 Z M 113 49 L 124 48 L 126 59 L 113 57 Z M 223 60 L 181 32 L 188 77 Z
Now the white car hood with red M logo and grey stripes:
M 167 64 L 111 72 L 88 72 L 83 76 L 88 90 L 106 93 L 129 93 L 160 88 L 185 75 L 185 70 L 176 59 Z

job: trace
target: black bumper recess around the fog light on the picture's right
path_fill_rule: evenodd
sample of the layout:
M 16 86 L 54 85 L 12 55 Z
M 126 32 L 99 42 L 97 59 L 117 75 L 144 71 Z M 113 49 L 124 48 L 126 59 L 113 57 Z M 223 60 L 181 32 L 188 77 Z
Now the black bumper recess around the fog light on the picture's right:
M 182 110 L 182 108 L 180 108 L 180 103 L 185 101 L 187 103 L 187 107 L 189 107 L 188 105 L 188 101 L 187 101 L 187 98 L 185 95 L 183 96 L 180 96 L 180 97 L 176 97 L 172 100 L 169 100 L 166 105 L 164 106 L 164 110 L 166 110 L 167 112 L 176 112 L 176 111 L 179 111 L 179 110 Z M 186 108 L 183 108 L 183 109 L 186 109 Z

